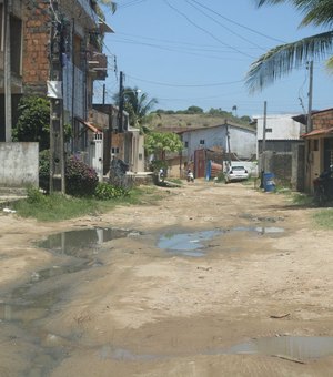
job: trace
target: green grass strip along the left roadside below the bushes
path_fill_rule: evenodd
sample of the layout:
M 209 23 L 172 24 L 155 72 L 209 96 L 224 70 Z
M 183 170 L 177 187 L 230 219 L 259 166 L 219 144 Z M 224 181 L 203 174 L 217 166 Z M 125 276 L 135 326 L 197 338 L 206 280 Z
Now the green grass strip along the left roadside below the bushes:
M 28 191 L 28 197 L 11 203 L 11 210 L 17 211 L 21 217 L 32 217 L 41 222 L 57 222 L 98 215 L 111 211 L 118 205 L 153 204 L 163 195 L 153 186 L 134 187 L 128 195 L 107 201 L 92 197 L 73 197 L 69 195 L 43 195 L 37 190 Z

